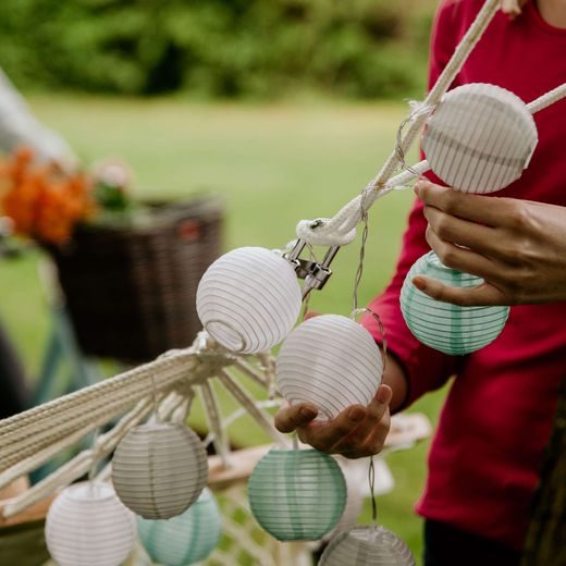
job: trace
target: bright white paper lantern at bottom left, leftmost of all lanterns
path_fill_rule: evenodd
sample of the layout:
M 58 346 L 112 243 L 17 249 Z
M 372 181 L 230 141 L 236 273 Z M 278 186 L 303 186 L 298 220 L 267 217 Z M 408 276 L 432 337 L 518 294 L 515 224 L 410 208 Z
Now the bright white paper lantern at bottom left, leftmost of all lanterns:
M 70 485 L 46 517 L 47 547 L 59 566 L 120 566 L 135 541 L 134 514 L 108 483 Z

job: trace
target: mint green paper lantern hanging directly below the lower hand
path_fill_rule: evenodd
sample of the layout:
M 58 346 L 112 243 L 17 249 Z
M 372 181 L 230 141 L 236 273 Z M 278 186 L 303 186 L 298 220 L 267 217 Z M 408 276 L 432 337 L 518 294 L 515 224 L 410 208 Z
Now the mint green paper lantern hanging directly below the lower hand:
M 319 540 L 332 530 L 346 504 L 339 465 L 315 450 L 272 450 L 248 482 L 254 517 L 280 541 Z

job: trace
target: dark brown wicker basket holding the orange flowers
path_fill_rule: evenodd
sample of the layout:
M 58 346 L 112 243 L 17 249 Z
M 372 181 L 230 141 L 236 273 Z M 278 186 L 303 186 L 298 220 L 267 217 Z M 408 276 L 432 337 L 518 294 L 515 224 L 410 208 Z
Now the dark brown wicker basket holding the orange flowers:
M 219 256 L 218 199 L 152 206 L 145 227 L 90 227 L 51 250 L 82 350 L 146 361 L 190 345 L 198 282 Z

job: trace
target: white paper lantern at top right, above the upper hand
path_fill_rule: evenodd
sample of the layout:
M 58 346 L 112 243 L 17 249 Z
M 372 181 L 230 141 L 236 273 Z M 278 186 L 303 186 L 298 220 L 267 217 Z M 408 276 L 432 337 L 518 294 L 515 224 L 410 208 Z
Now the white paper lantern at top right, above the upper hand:
M 422 136 L 432 171 L 465 193 L 492 193 L 519 179 L 537 143 L 527 104 L 509 90 L 483 83 L 446 93 Z

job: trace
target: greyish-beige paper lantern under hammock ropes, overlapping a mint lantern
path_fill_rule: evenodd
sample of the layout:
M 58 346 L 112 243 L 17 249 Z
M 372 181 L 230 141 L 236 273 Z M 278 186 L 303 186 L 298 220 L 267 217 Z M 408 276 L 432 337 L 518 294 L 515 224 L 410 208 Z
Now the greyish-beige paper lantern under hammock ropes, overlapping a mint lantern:
M 132 429 L 112 459 L 122 503 L 147 519 L 181 515 L 205 489 L 207 454 L 187 427 L 151 422 Z

